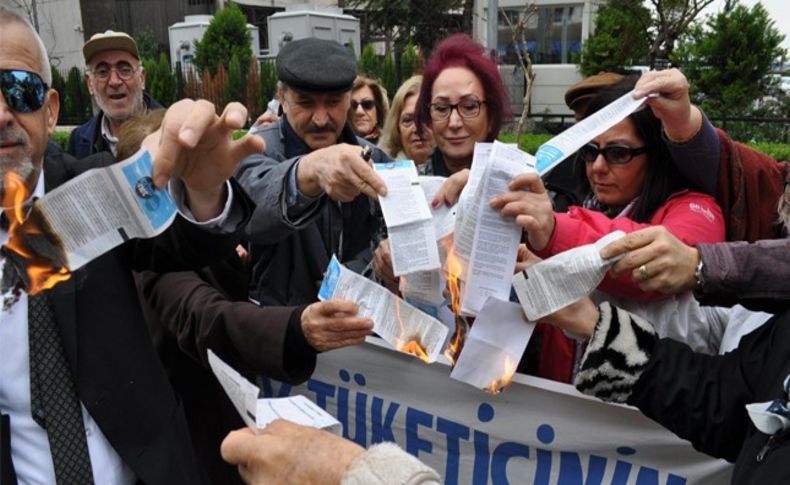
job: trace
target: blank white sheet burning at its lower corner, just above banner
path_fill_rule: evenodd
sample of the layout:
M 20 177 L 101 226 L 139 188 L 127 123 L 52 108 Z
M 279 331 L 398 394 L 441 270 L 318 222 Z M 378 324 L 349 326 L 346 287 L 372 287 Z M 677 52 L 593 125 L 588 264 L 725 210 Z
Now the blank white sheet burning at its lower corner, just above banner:
M 535 329 L 518 303 L 488 298 L 450 377 L 496 394 L 513 379 Z

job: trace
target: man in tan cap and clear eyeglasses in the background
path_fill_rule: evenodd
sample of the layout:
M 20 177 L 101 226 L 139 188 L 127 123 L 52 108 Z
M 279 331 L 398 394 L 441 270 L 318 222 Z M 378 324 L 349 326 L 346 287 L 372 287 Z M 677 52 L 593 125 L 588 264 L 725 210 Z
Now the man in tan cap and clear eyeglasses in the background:
M 99 112 L 71 132 L 68 151 L 77 158 L 103 151 L 114 156 L 123 122 L 162 106 L 144 91 L 145 69 L 137 43 L 128 34 L 95 34 L 82 52 L 88 65 L 85 83 Z

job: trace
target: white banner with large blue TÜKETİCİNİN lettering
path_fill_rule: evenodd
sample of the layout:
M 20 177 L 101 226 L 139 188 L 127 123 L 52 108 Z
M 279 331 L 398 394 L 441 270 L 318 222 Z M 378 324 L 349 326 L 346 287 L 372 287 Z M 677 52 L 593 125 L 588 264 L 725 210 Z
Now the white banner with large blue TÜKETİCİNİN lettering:
M 376 338 L 321 354 L 312 379 L 262 378 L 264 397 L 302 394 L 362 446 L 394 441 L 447 484 L 684 485 L 730 481 L 730 465 L 695 451 L 638 410 L 516 374 L 498 395 L 450 379 Z

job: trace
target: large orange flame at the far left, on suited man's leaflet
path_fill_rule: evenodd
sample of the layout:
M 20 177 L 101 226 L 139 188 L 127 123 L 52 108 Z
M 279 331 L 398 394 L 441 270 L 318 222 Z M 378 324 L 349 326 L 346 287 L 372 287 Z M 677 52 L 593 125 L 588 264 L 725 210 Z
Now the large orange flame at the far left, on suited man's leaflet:
M 29 278 L 26 291 L 35 295 L 69 279 L 68 269 L 55 269 L 51 260 L 42 257 L 28 248 L 25 237 L 44 234 L 44 231 L 31 218 L 27 217 L 25 202 L 31 191 L 25 180 L 14 172 L 8 172 L 3 179 L 3 211 L 8 218 L 9 240 L 5 248 L 19 255 L 25 261 L 25 272 Z

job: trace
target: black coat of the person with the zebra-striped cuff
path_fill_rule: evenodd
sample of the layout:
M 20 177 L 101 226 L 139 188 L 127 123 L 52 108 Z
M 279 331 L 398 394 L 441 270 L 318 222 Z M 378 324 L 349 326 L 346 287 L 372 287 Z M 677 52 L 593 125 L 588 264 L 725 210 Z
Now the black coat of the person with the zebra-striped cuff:
M 628 403 L 699 451 L 735 462 L 733 484 L 790 483 L 790 431 L 771 439 L 744 407 L 782 397 L 789 373 L 790 310 L 724 356 L 658 341 Z

